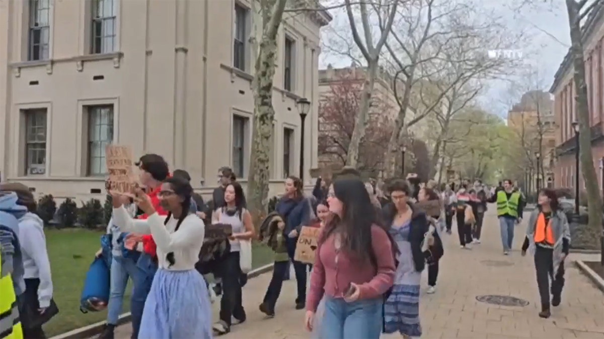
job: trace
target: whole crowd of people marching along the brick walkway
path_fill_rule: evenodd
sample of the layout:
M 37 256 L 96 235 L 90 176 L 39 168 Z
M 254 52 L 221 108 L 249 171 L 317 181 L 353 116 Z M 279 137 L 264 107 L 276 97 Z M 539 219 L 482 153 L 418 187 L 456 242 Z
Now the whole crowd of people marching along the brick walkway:
M 132 338 L 211 338 L 230 332 L 231 326 L 246 321 L 242 288 L 247 272 L 242 262 L 248 259 L 251 239 L 262 240 L 274 252 L 272 278 L 259 305 L 268 318 L 275 317 L 283 280 L 293 265 L 294 307 L 306 310 L 304 326 L 313 337 L 379 338 L 382 332 L 420 337 L 421 274 L 428 271 L 426 293 L 435 293 L 445 255 L 443 236 L 452 233 L 454 217 L 460 247 L 470 249 L 480 244 L 487 203 L 495 203 L 503 253 L 509 255 L 525 203 L 511 180 L 493 189 L 480 180 L 436 187 L 432 180 L 422 183 L 410 175 L 380 187 L 348 169 L 332 182 L 317 179 L 312 195 L 304 194 L 299 178 L 288 177 L 275 211 L 254 227 L 242 186 L 230 168 L 219 169 L 220 185 L 204 203 L 188 173 L 170 173 L 161 156 L 146 154 L 136 165 L 141 187 L 132 196 L 108 192 L 113 204 L 107 226 L 111 294 L 101 339 L 114 338 L 129 279 L 134 286 Z M 42 220 L 33 214 L 35 202 L 27 186 L 2 184 L 0 191 L 0 311 L 22 313 L 20 323 L 19 315 L 7 328 L 4 319 L 0 322 L 2 333 L 11 335 L 0 338 L 44 338 L 44 322 L 37 319 L 56 305 Z M 202 260 L 205 225 L 210 223 L 228 224 L 233 232 L 209 260 Z M 303 226 L 320 228 L 312 265 L 295 260 Z M 557 198 L 543 189 L 522 246 L 522 255 L 527 250 L 535 255 L 541 317 L 549 317 L 550 305 L 561 302 L 569 244 L 568 222 Z M 105 252 L 101 249 L 97 256 Z M 209 273 L 216 285 L 208 284 Z M 5 294 L 8 290 L 12 294 Z M 213 293 L 220 295 L 216 322 Z M 13 305 L 18 307 L 13 310 Z

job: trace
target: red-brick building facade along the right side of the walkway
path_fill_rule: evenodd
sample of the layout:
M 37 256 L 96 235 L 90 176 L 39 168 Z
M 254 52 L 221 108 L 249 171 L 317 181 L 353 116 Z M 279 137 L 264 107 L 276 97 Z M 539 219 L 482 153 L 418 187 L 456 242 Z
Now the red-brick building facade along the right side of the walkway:
M 596 166 L 598 185 L 602 187 L 600 161 L 604 157 L 604 8 L 593 11 L 586 19 L 583 33 L 585 55 L 585 80 L 588 90 L 588 106 L 591 122 L 591 154 Z M 556 116 L 557 160 L 554 165 L 556 187 L 573 188 L 579 175 L 579 189 L 586 185 L 582 174 L 577 174 L 575 165 L 576 137 L 573 122 L 577 121 L 574 97 L 577 89 L 573 81 L 573 65 L 570 53 L 566 55 L 554 77 L 550 92 L 554 94 Z

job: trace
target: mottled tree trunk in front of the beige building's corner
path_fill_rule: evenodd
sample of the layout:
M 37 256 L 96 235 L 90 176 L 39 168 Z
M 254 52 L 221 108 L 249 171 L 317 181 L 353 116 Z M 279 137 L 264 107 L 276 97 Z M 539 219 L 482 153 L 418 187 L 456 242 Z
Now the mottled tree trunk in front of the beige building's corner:
M 277 33 L 286 0 L 262 1 L 263 13 L 262 40 L 256 58 L 254 89 L 254 124 L 252 131 L 252 149 L 248 173 L 248 210 L 256 227 L 266 214 L 268 202 L 268 184 L 270 178 L 269 163 L 271 154 L 271 133 L 275 117 L 272 107 L 272 83 L 277 58 Z M 266 11 L 269 15 L 266 16 Z

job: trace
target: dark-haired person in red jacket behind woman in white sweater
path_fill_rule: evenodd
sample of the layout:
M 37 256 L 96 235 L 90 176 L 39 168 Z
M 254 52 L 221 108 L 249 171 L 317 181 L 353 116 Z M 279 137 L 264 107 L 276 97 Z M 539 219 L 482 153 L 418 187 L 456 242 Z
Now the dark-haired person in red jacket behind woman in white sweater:
M 159 215 L 167 215 L 160 203 L 159 192 L 161 185 L 169 176 L 168 163 L 158 154 L 145 154 L 135 163 L 139 170 L 139 181 L 146 187 L 146 193 L 149 195 L 153 208 Z M 144 212 L 144 211 L 143 211 Z M 114 216 L 115 217 L 115 216 Z M 138 219 L 146 220 L 147 214 L 138 215 Z M 115 221 L 115 220 L 114 220 Z M 120 225 L 117 225 L 118 227 Z M 153 277 L 158 268 L 158 258 L 156 255 L 156 245 L 153 236 L 150 234 L 142 235 L 140 246 L 141 255 L 137 260 L 137 274 L 133 279 L 134 288 L 130 297 L 130 312 L 132 313 L 132 338 L 138 338 L 138 331 L 143 317 L 143 309 L 147 295 L 151 290 Z

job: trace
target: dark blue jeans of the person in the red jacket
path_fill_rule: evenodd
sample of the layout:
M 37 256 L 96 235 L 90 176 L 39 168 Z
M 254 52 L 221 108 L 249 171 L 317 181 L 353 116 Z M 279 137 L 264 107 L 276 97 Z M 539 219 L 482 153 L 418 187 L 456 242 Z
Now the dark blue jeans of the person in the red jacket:
M 147 253 L 141 254 L 137 261 L 137 273 L 134 279 L 134 290 L 130 299 L 130 312 L 132 312 L 132 338 L 138 338 L 138 330 L 141 328 L 145 300 L 151 291 L 153 276 L 157 271 L 157 264 Z

